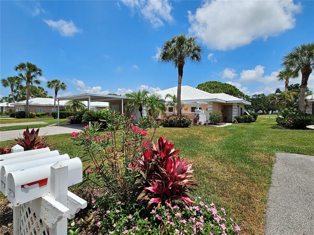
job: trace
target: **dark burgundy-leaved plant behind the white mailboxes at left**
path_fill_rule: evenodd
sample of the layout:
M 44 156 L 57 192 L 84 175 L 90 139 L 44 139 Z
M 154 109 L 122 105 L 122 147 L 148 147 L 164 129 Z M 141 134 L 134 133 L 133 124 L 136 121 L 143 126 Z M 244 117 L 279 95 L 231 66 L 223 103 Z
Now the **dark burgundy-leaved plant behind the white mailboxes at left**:
M 51 144 L 47 143 L 46 136 L 38 137 L 39 128 L 35 131 L 33 128 L 31 132 L 29 131 L 28 127 L 23 132 L 24 138 L 17 138 L 15 139 L 16 144 L 19 144 L 24 148 L 24 151 L 32 150 L 32 149 L 42 149 L 46 147 L 50 147 Z

